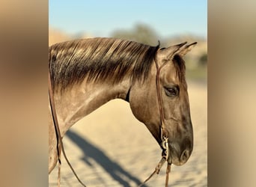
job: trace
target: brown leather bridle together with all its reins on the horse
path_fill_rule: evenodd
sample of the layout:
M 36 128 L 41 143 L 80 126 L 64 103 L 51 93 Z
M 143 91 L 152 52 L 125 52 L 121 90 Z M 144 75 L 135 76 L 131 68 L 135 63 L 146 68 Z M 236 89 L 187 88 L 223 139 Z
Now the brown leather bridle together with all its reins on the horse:
M 153 171 L 152 174 L 150 174 L 150 177 L 148 177 L 146 180 L 144 180 L 143 183 L 139 186 L 143 186 L 145 183 L 147 183 L 148 180 L 150 180 L 151 177 L 153 177 L 154 174 L 159 174 L 160 169 L 162 168 L 162 165 L 165 162 L 168 162 L 167 168 L 166 168 L 166 178 L 165 178 L 165 187 L 168 186 L 168 176 L 171 172 L 171 156 L 169 154 L 169 147 L 168 147 L 168 132 L 165 129 L 165 123 L 164 123 L 164 111 L 163 111 L 163 105 L 162 105 L 162 94 L 160 89 L 160 71 L 162 70 L 162 67 L 167 64 L 167 61 L 165 61 L 160 67 L 159 64 L 154 58 L 155 64 L 156 64 L 156 94 L 157 94 L 157 101 L 159 105 L 159 114 L 160 114 L 160 138 L 161 138 L 161 148 L 162 148 L 162 159 L 158 163 L 158 165 L 155 168 L 155 171 Z M 70 166 L 71 170 L 73 171 L 73 174 L 76 176 L 76 179 L 79 181 L 79 183 L 82 184 L 82 186 L 85 186 L 84 183 L 79 179 L 76 172 L 74 171 L 72 165 L 70 164 L 69 160 L 67 159 L 66 153 L 64 151 L 64 146 L 61 139 L 61 132 L 58 125 L 58 119 L 57 114 L 55 110 L 55 102 L 54 102 L 54 96 L 53 96 L 53 88 L 52 88 L 52 76 L 51 76 L 51 63 L 49 63 L 49 101 L 50 101 L 50 107 L 52 111 L 52 118 L 53 123 L 55 126 L 55 133 L 57 138 L 57 151 L 58 151 L 58 186 L 60 186 L 60 168 L 61 168 L 61 150 L 63 152 L 64 158 L 67 161 L 67 164 Z M 85 186 L 86 187 L 86 186 Z

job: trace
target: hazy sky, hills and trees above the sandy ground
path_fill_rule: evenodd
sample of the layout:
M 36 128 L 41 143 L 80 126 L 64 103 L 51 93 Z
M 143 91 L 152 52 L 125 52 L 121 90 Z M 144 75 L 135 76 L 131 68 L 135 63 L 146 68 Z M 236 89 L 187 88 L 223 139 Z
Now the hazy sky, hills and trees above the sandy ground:
M 87 37 L 161 47 L 196 41 L 187 77 L 207 82 L 207 1 L 49 1 L 49 46 Z

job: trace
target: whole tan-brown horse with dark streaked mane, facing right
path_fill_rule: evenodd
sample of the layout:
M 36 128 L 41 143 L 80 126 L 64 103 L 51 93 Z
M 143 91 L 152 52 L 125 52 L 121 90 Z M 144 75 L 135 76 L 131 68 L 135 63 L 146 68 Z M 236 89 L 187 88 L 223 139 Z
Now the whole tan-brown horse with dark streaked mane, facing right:
M 193 149 L 193 129 L 183 56 L 195 44 L 159 48 L 97 37 L 49 46 L 54 96 L 54 108 L 49 96 L 49 174 L 58 162 L 58 140 L 82 117 L 117 98 L 129 102 L 132 114 L 156 139 L 162 160 L 185 164 Z

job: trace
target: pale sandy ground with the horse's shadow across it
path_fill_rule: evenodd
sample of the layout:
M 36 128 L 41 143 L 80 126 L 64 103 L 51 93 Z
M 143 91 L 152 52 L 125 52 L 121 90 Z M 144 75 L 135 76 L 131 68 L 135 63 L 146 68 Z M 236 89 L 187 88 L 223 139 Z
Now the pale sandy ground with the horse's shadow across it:
M 188 82 L 194 150 L 183 166 L 171 165 L 169 186 L 207 186 L 207 85 Z M 76 123 L 64 147 L 86 186 L 138 186 L 153 172 L 161 149 L 129 103 L 115 99 Z M 61 186 L 81 186 L 62 156 Z M 58 167 L 49 175 L 57 186 Z M 165 186 L 165 165 L 147 186 Z

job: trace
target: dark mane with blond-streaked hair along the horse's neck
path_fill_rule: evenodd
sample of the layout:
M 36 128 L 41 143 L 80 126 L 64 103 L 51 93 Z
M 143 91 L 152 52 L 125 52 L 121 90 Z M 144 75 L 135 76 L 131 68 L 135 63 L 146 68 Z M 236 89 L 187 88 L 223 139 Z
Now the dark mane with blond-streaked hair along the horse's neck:
M 112 78 L 120 82 L 129 73 L 131 81 L 147 78 L 158 46 L 115 38 L 91 38 L 57 43 L 49 47 L 53 88 L 61 90 L 82 82 Z

